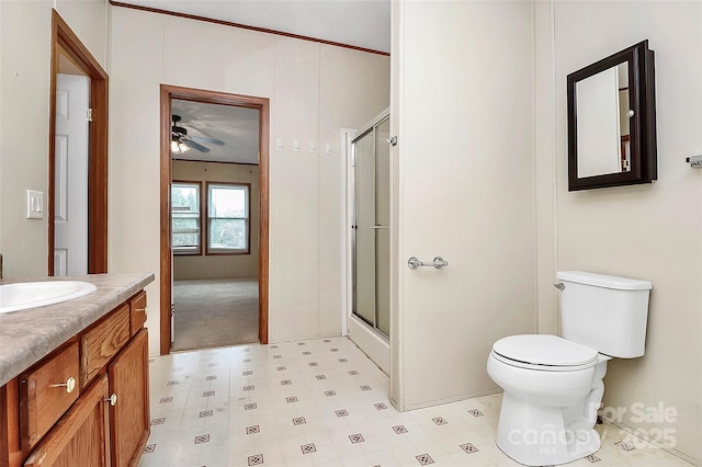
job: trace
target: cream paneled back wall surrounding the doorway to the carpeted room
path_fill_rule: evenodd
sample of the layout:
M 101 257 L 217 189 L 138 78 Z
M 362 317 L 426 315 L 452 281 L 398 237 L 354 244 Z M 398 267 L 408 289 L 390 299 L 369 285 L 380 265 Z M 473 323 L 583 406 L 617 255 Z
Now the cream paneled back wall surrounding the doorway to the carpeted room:
M 387 106 L 389 58 L 118 7 L 111 12 L 112 270 L 159 271 L 159 84 L 269 98 L 269 338 L 340 334 L 340 129 L 360 127 Z M 152 306 L 159 294 L 157 277 L 149 286 Z M 147 324 L 158 335 L 158 314 L 149 314 Z M 150 352 L 158 353 L 158 339 Z

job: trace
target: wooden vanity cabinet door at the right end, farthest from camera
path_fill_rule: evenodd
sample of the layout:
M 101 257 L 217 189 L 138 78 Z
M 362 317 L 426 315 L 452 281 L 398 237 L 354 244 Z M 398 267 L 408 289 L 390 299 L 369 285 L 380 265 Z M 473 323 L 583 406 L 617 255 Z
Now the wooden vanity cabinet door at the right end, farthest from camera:
M 149 437 L 148 331 L 140 330 L 110 364 L 112 465 L 136 465 Z

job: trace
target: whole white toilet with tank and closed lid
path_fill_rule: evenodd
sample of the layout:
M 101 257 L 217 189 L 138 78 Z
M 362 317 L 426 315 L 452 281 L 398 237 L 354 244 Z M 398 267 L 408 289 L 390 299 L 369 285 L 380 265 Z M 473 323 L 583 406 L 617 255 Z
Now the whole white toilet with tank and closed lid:
M 528 466 L 558 465 L 600 448 L 595 431 L 607 362 L 644 354 L 652 284 L 580 271 L 556 273 L 563 337 L 495 342 L 487 373 L 505 391 L 497 445 Z

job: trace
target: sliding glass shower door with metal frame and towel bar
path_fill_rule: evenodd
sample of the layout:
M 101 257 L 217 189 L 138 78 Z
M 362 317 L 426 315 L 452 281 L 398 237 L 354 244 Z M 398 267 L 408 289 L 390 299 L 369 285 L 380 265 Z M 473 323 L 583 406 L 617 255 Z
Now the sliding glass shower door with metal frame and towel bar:
M 353 315 L 389 337 L 389 117 L 352 141 Z

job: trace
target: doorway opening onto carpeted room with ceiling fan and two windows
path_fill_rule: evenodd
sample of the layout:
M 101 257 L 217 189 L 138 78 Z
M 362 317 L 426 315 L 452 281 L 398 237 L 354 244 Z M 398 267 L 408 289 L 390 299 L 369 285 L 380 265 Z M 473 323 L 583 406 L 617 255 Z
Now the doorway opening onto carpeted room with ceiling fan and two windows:
M 258 111 L 241 115 L 239 107 L 213 111 L 191 102 L 194 109 L 183 112 L 176 109 L 180 102 L 172 106 L 189 135 L 203 134 L 195 129 L 205 124 L 199 115 L 227 130 L 215 132 L 220 150 L 203 153 L 195 146 L 173 156 L 171 352 L 259 342 Z M 240 163 L 249 159 L 257 163 Z

